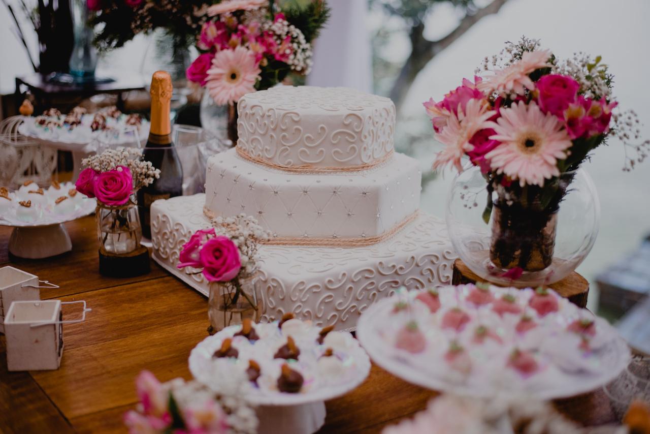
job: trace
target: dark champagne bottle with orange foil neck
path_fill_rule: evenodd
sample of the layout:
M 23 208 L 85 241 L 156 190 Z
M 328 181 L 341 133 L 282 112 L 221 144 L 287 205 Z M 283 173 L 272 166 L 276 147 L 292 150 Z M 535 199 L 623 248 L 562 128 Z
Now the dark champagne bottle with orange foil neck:
M 138 190 L 138 207 L 142 235 L 151 238 L 151 204 L 158 199 L 183 194 L 183 167 L 172 143 L 170 124 L 170 100 L 172 99 L 172 77 L 164 71 L 157 71 L 151 77 L 151 124 L 142 159 L 151 161 L 153 167 L 161 170 L 161 176 L 152 184 Z

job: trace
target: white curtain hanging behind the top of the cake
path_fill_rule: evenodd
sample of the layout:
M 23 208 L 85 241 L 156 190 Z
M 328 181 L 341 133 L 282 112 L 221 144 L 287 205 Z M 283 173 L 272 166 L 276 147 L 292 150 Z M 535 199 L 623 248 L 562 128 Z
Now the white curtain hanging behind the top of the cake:
M 331 17 L 315 41 L 307 85 L 372 92 L 372 53 L 367 0 L 328 0 Z

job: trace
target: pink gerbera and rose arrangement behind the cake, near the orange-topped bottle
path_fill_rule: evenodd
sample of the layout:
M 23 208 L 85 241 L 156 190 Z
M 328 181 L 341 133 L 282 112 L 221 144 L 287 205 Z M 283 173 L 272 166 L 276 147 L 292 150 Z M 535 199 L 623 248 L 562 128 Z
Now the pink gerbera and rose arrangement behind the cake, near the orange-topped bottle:
M 305 2 L 302 2 L 305 3 Z M 328 19 L 324 0 L 224 0 L 205 9 L 196 47 L 201 55 L 187 78 L 207 88 L 218 105 L 272 87 L 289 72 L 309 74 L 311 41 Z

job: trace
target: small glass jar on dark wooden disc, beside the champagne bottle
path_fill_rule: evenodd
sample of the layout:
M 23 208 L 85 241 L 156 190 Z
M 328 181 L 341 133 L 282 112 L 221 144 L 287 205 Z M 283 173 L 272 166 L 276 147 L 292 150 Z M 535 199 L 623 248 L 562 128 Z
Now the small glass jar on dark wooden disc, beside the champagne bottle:
M 142 230 L 135 196 L 122 206 L 97 202 L 99 251 L 107 256 L 128 255 L 140 249 Z

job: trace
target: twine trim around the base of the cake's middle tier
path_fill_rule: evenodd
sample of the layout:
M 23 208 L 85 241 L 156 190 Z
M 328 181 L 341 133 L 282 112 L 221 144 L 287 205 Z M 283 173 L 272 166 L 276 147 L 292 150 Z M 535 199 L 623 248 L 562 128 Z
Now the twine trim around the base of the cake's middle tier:
M 210 221 L 216 219 L 216 214 L 203 206 L 203 214 Z M 407 224 L 411 223 L 419 214 L 419 210 L 415 210 L 411 215 L 408 215 L 400 223 L 393 226 L 390 230 L 383 232 L 383 234 L 371 237 L 272 237 L 266 241 L 261 241 L 265 245 L 283 245 L 294 247 L 366 247 L 369 245 L 381 243 L 385 239 L 389 239 L 397 232 L 400 232 Z

